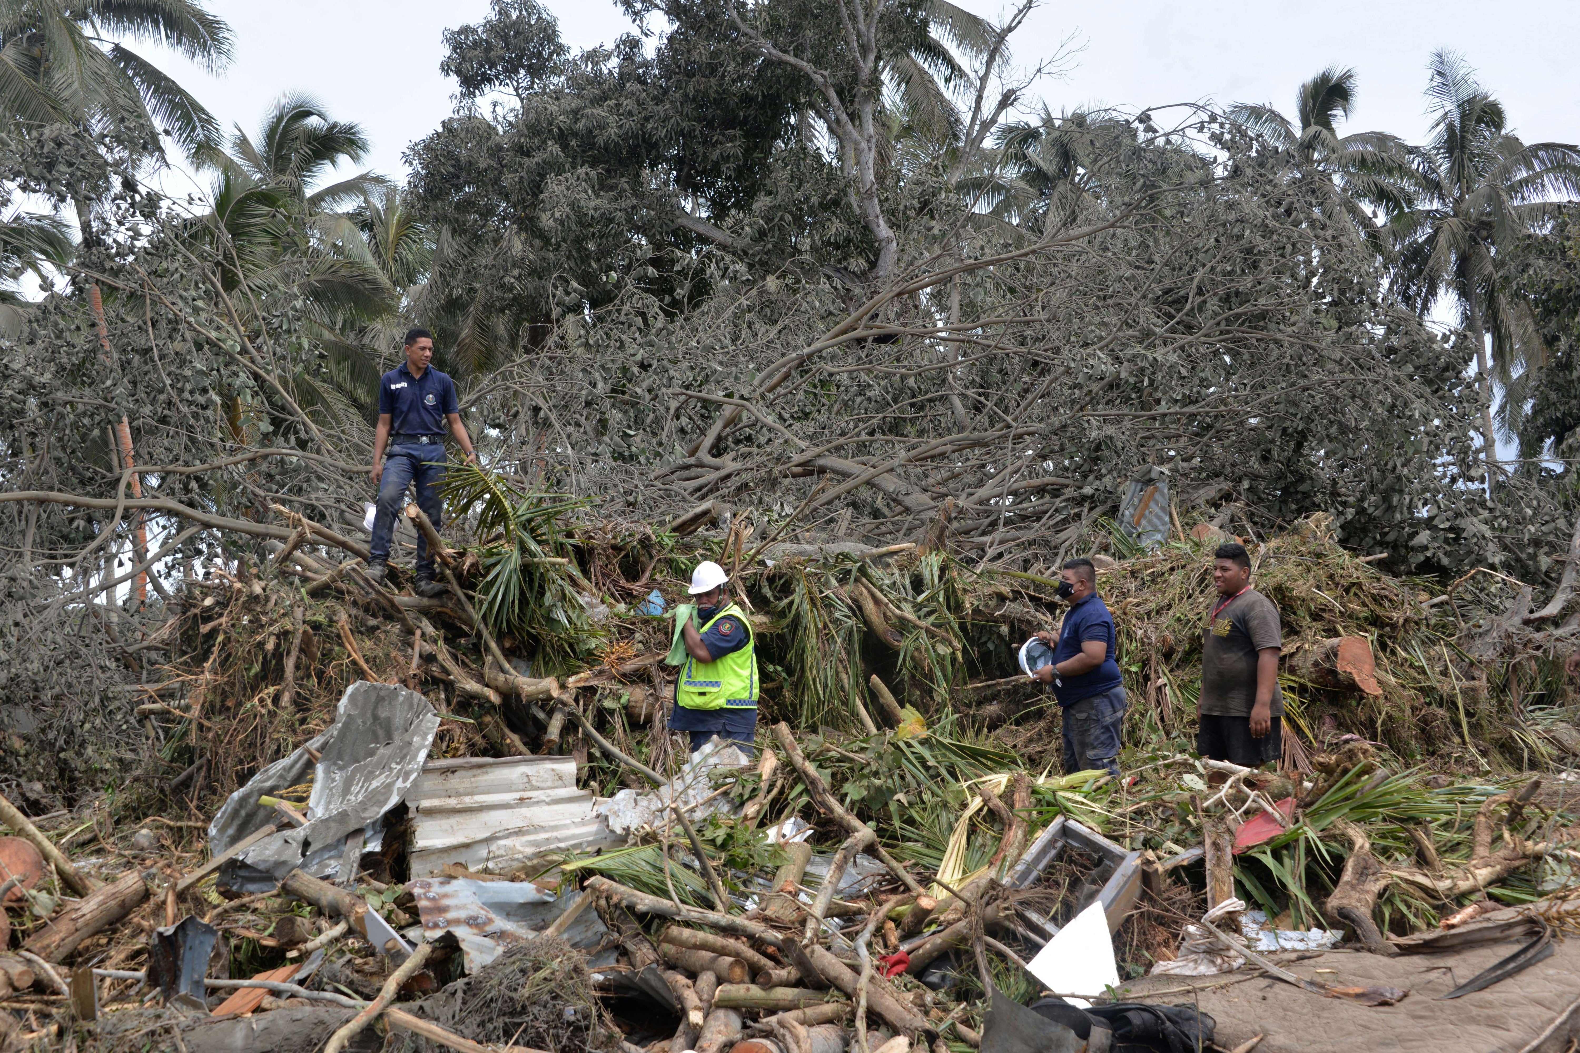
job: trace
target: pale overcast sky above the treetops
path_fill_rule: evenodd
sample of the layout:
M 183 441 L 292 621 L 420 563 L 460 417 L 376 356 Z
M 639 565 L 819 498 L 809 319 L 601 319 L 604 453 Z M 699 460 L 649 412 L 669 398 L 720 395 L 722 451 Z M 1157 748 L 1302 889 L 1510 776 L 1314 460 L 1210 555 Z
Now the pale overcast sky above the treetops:
M 450 112 L 455 85 L 439 76 L 447 27 L 485 17 L 488 0 L 210 0 L 235 30 L 235 62 L 209 76 L 174 55 L 179 74 L 229 128 L 254 128 L 286 92 L 318 96 L 337 118 L 373 139 L 370 167 L 404 177 L 401 152 Z M 964 0 L 997 17 L 997 0 Z M 629 28 L 608 0 L 548 0 L 572 47 Z M 1014 60 L 1032 68 L 1074 38 L 1084 47 L 1068 74 L 1038 93 L 1055 111 L 1089 104 L 1161 106 L 1215 98 L 1275 103 L 1292 112 L 1300 81 L 1327 65 L 1360 77 L 1352 131 L 1425 136 L 1422 87 L 1435 47 L 1452 47 L 1480 71 L 1528 142 L 1580 139 L 1580 3 L 1559 0 L 1111 0 L 1049 3 L 1014 38 Z M 152 49 L 150 49 L 152 51 Z M 169 191 L 185 177 L 161 180 Z

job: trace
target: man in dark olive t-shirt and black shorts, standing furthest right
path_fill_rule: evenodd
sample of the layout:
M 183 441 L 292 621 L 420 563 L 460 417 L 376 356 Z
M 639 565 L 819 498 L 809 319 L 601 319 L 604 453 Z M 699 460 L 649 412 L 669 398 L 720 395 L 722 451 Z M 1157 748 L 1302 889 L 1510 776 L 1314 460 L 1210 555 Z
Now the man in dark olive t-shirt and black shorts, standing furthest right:
M 1196 751 L 1261 767 L 1283 753 L 1278 608 L 1251 589 L 1251 557 L 1243 545 L 1218 546 L 1212 583 L 1218 595 L 1202 628 Z

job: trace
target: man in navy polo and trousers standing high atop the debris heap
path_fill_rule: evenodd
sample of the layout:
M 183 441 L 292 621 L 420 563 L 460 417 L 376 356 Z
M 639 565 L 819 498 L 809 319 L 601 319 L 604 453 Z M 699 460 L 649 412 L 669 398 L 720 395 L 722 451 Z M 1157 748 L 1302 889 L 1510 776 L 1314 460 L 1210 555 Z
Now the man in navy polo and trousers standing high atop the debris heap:
M 461 423 L 461 406 L 455 384 L 431 368 L 433 333 L 412 328 L 406 333 L 406 362 L 379 377 L 379 428 L 373 436 L 373 485 L 379 488 L 378 515 L 373 518 L 373 541 L 368 545 L 368 578 L 384 581 L 389 567 L 390 538 L 406 504 L 406 488 L 417 485 L 417 507 L 438 529 L 444 500 L 444 429 L 449 425 L 455 440 L 476 461 L 472 439 Z M 384 455 L 389 453 L 386 461 Z M 433 557 L 428 540 L 417 534 L 417 594 L 434 597 L 444 587 L 433 579 Z

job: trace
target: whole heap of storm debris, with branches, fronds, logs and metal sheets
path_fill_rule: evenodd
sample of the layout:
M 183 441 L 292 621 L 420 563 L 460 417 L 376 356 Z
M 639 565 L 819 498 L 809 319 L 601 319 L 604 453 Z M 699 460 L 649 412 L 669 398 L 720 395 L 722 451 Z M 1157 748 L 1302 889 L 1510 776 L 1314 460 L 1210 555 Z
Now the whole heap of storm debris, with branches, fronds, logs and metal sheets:
M 1190 753 L 1213 537 L 1115 534 L 1114 780 L 1051 770 L 1057 707 L 1016 674 L 1046 573 L 455 488 L 477 543 L 409 515 L 446 595 L 292 515 L 149 633 L 145 778 L 0 799 L 0 1050 L 1232 1048 L 1182 991 L 1270 976 L 1381 1012 L 1417 995 L 1291 963 L 1547 935 L 1492 987 L 1574 928 L 1572 783 L 1515 770 L 1564 753 L 1566 698 L 1496 583 L 1389 578 L 1321 521 L 1261 545 L 1292 720 L 1253 772 Z M 750 750 L 665 725 L 664 613 L 702 557 L 760 641 Z

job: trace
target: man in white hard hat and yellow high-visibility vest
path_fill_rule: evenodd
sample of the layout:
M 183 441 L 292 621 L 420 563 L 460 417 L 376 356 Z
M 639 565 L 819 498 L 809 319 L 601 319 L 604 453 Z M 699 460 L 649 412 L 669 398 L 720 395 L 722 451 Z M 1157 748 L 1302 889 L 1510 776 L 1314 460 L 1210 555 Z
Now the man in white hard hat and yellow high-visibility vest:
M 741 742 L 747 753 L 757 731 L 757 647 L 746 613 L 730 603 L 730 576 L 713 560 L 697 564 L 689 606 L 676 608 L 686 661 L 675 685 L 670 728 L 690 734 L 692 751 L 713 736 Z

